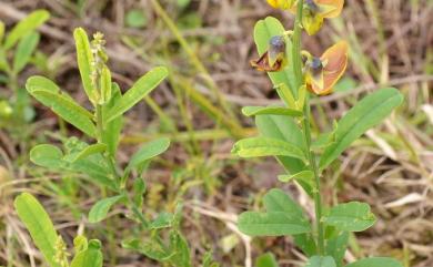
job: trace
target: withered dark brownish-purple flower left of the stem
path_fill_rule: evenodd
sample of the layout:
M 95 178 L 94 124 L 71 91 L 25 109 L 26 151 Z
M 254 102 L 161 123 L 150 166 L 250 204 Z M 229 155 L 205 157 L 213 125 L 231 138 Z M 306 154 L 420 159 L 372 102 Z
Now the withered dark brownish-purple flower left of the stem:
M 250 64 L 259 71 L 281 71 L 286 63 L 284 35 L 276 35 L 269 41 L 268 51 Z

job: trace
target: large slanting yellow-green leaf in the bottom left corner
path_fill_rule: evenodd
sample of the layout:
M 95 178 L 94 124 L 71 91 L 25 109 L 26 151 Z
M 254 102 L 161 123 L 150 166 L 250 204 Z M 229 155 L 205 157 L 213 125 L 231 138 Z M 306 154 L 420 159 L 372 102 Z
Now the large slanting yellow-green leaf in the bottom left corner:
M 42 205 L 32 195 L 22 193 L 16 198 L 14 207 L 46 260 L 52 267 L 60 267 L 54 260 L 58 234 Z

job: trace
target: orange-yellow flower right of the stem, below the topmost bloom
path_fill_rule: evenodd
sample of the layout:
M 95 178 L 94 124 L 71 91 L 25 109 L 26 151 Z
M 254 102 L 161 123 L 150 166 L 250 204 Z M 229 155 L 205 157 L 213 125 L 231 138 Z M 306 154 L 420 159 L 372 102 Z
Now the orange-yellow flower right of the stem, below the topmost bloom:
M 310 92 L 324 95 L 343 75 L 348 65 L 348 43 L 340 41 L 320 58 L 310 57 L 305 63 L 305 84 Z

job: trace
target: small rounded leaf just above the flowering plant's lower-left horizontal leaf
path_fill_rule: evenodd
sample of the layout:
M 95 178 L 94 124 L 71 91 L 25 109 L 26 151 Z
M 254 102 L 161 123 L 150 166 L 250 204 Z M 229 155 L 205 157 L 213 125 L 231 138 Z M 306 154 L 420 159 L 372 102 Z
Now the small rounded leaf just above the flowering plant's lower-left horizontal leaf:
M 270 189 L 263 197 L 263 204 L 268 212 L 284 212 L 304 218 L 302 208 L 282 189 Z

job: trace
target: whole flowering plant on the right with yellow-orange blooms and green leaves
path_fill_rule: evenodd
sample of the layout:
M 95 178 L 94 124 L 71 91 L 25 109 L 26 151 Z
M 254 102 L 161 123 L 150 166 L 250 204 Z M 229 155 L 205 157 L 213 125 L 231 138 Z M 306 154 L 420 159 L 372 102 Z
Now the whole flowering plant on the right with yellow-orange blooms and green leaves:
M 403 96 L 396 89 L 381 89 L 356 103 L 331 132 L 311 133 L 310 94 L 332 92 L 348 64 L 349 45 L 339 41 L 321 57 L 301 50 L 304 29 L 314 34 L 325 18 L 341 13 L 343 0 L 268 0 L 274 7 L 295 13 L 293 30 L 285 30 L 272 17 L 260 20 L 254 41 L 260 53 L 252 66 L 268 72 L 282 106 L 245 106 L 242 112 L 255 116 L 260 135 L 238 141 L 232 152 L 241 157 L 274 156 L 285 173 L 282 183 L 298 183 L 314 201 L 314 218 L 284 191 L 273 188 L 263 197 L 265 212 L 245 212 L 238 220 L 250 236 L 292 235 L 309 257 L 308 267 L 401 267 L 391 258 L 372 257 L 344 265 L 349 234 L 371 227 L 376 218 L 366 203 L 349 202 L 328 206 L 322 199 L 323 171 L 370 127 L 377 125 Z M 311 223 L 311 220 L 313 223 Z

